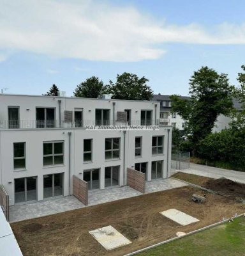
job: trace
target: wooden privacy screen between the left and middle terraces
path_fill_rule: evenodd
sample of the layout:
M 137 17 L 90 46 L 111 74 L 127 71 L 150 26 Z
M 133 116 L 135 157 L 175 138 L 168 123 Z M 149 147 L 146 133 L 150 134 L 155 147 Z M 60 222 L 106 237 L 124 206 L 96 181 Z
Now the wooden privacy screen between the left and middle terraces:
M 83 204 L 87 205 L 89 203 L 87 182 L 79 179 L 76 175 L 73 175 L 73 195 L 76 196 Z

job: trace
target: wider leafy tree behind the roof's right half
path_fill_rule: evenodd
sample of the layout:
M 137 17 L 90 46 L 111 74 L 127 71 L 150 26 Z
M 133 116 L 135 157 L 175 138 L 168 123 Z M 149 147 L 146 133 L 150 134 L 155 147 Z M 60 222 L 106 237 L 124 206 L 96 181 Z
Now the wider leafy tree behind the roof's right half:
M 147 82 L 149 80 L 144 76 L 138 78 L 135 74 L 124 72 L 117 75 L 116 83 L 110 80 L 109 92 L 113 95 L 112 99 L 151 100 L 153 92 Z

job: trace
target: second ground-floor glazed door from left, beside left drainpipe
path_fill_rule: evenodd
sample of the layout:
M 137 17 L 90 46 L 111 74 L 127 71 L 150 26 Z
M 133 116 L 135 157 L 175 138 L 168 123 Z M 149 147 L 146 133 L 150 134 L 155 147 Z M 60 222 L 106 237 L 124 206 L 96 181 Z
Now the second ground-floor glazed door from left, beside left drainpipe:
M 43 198 L 63 195 L 63 173 L 43 175 Z

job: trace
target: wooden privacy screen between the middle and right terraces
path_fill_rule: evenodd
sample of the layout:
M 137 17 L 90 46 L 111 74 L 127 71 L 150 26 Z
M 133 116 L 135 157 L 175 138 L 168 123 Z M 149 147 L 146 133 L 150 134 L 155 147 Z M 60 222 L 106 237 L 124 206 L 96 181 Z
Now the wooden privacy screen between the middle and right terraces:
M 131 188 L 145 193 L 145 173 L 127 168 L 127 183 Z

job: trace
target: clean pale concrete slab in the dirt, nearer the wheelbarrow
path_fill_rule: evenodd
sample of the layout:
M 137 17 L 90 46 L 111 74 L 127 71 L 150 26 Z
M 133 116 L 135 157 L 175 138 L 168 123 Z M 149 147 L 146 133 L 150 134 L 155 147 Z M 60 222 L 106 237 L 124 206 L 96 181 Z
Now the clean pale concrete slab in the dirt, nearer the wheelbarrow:
M 182 226 L 199 221 L 198 219 L 176 209 L 168 209 L 167 211 L 160 212 L 160 214 L 181 224 Z

